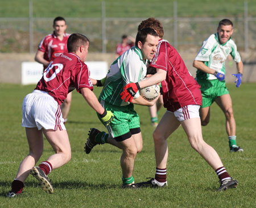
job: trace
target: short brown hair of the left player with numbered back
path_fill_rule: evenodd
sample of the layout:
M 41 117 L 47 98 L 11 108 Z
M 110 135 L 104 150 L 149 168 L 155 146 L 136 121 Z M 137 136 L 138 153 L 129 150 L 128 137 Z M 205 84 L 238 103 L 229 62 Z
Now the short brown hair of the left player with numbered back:
M 80 33 L 73 33 L 68 38 L 68 52 L 76 52 L 81 45 L 87 45 L 89 42 L 90 41 L 86 36 Z

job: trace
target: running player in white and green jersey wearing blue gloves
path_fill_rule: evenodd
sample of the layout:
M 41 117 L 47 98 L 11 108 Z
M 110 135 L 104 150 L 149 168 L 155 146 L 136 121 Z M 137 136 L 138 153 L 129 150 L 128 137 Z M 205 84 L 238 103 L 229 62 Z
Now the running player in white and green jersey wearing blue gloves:
M 204 41 L 197 54 L 193 66 L 197 68 L 196 80 L 201 86 L 202 107 L 200 109 L 201 124 L 206 126 L 210 122 L 210 105 L 215 101 L 226 117 L 226 133 L 229 139 L 230 152 L 242 152 L 236 142 L 236 121 L 232 108 L 232 100 L 225 83 L 225 61 L 229 54 L 237 65 L 235 83 L 240 87 L 243 75 L 243 62 L 237 51 L 237 46 L 231 39 L 233 23 L 229 19 L 222 19 L 218 23 L 217 32 Z

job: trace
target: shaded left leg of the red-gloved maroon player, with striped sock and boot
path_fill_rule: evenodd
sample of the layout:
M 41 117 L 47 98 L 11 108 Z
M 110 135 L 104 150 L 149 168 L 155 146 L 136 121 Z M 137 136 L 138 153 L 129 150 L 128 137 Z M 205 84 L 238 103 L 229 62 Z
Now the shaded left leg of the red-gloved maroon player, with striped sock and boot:
M 166 172 L 167 172 L 167 159 L 168 159 L 168 145 L 167 138 L 180 126 L 180 122 L 172 112 L 166 112 L 161 118 L 158 126 L 156 127 L 153 137 L 155 143 L 155 160 L 156 172 L 155 177 L 145 181 L 139 182 L 139 187 L 158 187 L 167 185 Z

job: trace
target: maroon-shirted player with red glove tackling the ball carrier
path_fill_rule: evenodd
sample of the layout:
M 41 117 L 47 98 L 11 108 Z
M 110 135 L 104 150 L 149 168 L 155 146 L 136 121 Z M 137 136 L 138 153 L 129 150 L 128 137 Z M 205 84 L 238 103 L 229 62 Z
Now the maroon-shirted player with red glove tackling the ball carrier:
M 230 177 L 217 152 L 203 139 L 199 116 L 202 100 L 199 84 L 189 73 L 179 53 L 170 43 L 162 39 L 164 31 L 159 20 L 154 18 L 144 20 L 138 30 L 144 27 L 155 29 L 160 37 L 158 49 L 150 64 L 156 68 L 157 73 L 141 82 L 127 84 L 121 98 L 131 102 L 133 94 L 139 88 L 162 82 L 164 107 L 167 111 L 153 133 L 156 159 L 155 177 L 146 182 L 140 182 L 137 186 L 167 185 L 167 138 L 181 125 L 191 147 L 216 171 L 221 184 L 218 190 L 236 187 L 237 180 Z

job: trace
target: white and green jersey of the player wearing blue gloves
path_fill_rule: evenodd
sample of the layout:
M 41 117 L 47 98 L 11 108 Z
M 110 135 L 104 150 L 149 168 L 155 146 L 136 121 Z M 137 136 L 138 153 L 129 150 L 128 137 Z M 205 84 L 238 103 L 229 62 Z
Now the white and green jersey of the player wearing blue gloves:
M 225 74 L 225 61 L 228 55 L 231 55 L 235 62 L 240 62 L 241 57 L 237 51 L 237 46 L 232 39 L 229 39 L 225 44 L 221 44 L 218 39 L 218 33 L 210 35 L 204 41 L 195 60 L 203 61 L 205 65 L 214 69 L 217 72 Z M 203 71 L 196 71 L 197 79 L 213 80 L 217 79 L 213 74 L 204 73 Z

